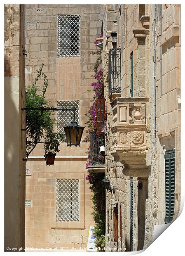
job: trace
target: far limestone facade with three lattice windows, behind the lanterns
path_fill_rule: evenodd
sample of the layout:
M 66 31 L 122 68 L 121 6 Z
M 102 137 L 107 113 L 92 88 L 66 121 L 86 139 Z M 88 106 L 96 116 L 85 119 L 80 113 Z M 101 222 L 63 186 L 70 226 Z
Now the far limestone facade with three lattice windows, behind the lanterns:
M 101 31 L 103 5 L 25 5 L 25 83 L 32 85 L 37 69 L 49 85 L 51 106 L 76 107 L 76 121 L 85 126 L 93 97 L 90 84 L 96 57 L 94 39 Z M 42 79 L 37 86 L 42 87 Z M 56 130 L 72 121 L 70 111 L 56 113 Z M 85 130 L 82 140 L 85 137 Z M 84 249 L 89 225 L 94 224 L 91 191 L 85 179 L 87 147 L 61 143 L 54 166 L 46 166 L 44 149 L 37 145 L 26 162 L 26 246 Z M 72 197 L 71 191 L 72 189 Z M 64 195 L 64 196 L 63 196 Z M 74 210 L 68 209 L 70 202 Z

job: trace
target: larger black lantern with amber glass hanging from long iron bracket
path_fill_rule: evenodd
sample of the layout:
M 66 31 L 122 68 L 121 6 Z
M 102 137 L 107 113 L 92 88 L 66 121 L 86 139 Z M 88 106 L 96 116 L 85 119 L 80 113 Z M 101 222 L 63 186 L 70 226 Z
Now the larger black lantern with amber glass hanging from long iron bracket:
M 80 146 L 82 133 L 85 127 L 79 126 L 77 122 L 70 122 L 68 126 L 63 127 L 66 133 L 67 146 Z

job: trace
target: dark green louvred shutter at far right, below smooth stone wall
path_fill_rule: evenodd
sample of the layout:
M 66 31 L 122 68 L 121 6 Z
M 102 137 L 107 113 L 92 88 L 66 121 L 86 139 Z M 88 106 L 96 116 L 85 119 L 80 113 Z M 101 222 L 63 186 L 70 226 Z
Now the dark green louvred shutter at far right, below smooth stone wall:
M 165 208 L 164 223 L 173 220 L 175 207 L 175 150 L 165 152 Z

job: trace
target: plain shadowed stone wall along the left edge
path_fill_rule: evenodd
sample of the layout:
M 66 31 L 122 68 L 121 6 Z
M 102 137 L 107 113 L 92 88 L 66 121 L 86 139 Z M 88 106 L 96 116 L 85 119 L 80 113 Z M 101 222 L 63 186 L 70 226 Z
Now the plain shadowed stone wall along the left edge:
M 25 245 L 24 5 L 5 5 L 5 251 Z M 21 248 L 22 247 L 22 248 Z

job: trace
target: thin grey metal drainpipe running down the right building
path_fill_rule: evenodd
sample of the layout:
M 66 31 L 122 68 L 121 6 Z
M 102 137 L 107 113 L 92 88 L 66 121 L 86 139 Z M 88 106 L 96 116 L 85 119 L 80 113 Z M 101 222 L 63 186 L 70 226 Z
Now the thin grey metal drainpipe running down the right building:
M 153 79 L 153 86 L 154 86 L 154 144 L 156 144 L 156 86 L 155 86 L 155 65 L 156 65 L 156 50 L 155 50 L 155 22 L 156 22 L 156 5 L 154 5 L 154 23 L 153 23 L 153 48 L 154 48 L 154 79 Z

